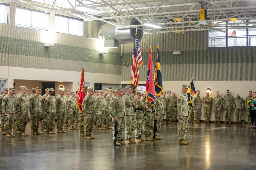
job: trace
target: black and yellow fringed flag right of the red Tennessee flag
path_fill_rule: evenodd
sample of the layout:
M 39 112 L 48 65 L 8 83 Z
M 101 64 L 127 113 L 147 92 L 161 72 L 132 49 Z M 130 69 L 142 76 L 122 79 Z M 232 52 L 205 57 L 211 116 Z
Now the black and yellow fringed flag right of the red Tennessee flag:
M 157 96 L 159 96 L 163 91 L 163 84 L 162 84 L 162 73 L 161 73 L 161 64 L 160 64 L 158 44 L 157 44 L 157 58 L 156 58 L 154 79 L 155 79 L 155 93 Z

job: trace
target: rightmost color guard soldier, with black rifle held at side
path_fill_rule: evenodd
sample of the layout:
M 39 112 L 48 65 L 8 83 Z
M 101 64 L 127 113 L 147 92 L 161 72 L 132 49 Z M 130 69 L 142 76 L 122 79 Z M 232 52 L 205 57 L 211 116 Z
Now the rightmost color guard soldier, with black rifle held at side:
M 161 99 L 161 94 L 159 96 L 156 95 L 155 102 L 156 102 L 156 108 L 155 108 L 156 111 L 154 113 L 154 116 L 157 117 L 157 123 L 156 123 L 157 131 L 155 132 L 155 138 L 156 140 L 159 140 L 159 139 L 163 139 L 162 137 L 158 136 L 159 131 L 161 129 L 163 115 L 164 115 L 164 105 Z

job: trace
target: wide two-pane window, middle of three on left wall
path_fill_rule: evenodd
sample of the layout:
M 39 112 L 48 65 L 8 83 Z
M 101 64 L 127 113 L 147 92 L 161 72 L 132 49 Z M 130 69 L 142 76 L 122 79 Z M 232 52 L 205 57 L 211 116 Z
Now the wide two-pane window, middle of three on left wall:
M 17 6 L 15 13 L 15 25 L 39 30 L 48 30 L 49 14 Z

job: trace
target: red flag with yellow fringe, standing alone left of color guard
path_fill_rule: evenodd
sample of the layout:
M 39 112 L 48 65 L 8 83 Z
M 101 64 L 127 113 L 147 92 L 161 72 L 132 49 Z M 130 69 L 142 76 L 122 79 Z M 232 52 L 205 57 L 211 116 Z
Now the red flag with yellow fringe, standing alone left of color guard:
M 85 94 L 85 88 L 84 88 L 84 75 L 83 75 L 84 68 L 81 68 L 81 74 L 80 74 L 80 81 L 79 81 L 79 88 L 78 88 L 78 95 L 77 95 L 77 105 L 80 113 L 83 112 L 82 110 L 82 102 Z

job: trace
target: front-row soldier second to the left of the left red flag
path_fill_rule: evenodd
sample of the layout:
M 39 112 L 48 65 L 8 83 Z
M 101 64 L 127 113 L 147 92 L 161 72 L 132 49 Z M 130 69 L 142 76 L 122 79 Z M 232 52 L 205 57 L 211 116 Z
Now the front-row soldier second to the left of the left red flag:
M 59 95 L 55 98 L 57 133 L 66 133 L 66 131 L 63 130 L 63 125 L 67 119 L 67 99 L 68 98 L 64 96 L 64 89 L 59 89 Z

